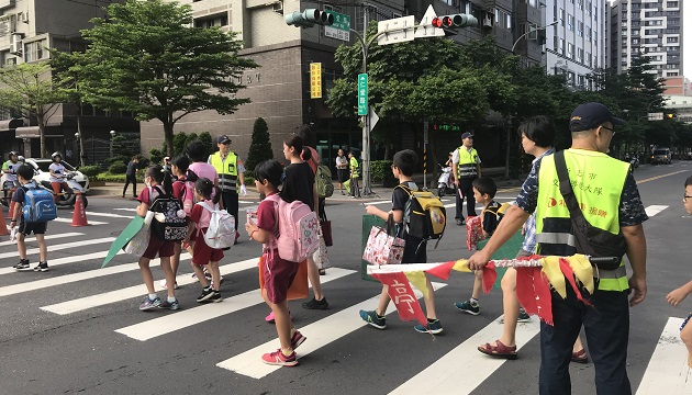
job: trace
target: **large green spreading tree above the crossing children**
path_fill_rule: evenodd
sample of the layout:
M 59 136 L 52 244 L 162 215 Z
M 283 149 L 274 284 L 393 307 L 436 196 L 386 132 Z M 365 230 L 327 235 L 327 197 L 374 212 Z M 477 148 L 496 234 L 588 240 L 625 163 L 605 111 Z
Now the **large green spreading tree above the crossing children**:
M 249 99 L 237 98 L 244 69 L 255 61 L 237 55 L 236 33 L 192 25 L 189 4 L 127 0 L 111 4 L 105 19 L 82 31 L 89 42 L 85 84 L 96 106 L 132 111 L 139 121 L 164 126 L 174 154 L 174 126 L 187 114 L 214 110 L 231 114 Z

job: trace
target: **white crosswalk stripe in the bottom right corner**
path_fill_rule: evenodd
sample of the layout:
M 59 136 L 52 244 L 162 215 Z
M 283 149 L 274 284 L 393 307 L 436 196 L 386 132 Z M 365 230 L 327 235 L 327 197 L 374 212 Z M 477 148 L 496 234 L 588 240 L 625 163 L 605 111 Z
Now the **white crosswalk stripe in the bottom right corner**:
M 688 348 L 680 340 L 682 321 L 682 318 L 668 318 L 636 395 L 692 394 L 692 371 L 688 366 Z

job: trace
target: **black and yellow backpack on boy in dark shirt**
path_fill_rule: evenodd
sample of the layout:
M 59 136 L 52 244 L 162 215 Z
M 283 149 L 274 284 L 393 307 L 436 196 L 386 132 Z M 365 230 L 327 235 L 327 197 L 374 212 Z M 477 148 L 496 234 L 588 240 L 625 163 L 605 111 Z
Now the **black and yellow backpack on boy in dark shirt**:
M 404 212 L 409 235 L 424 240 L 437 239 L 439 242 L 447 225 L 447 211 L 439 198 L 433 192 L 421 189 L 414 191 L 404 184 L 399 184 L 394 189 L 397 188 L 409 195 L 408 210 Z M 437 248 L 437 244 L 435 244 L 435 248 Z

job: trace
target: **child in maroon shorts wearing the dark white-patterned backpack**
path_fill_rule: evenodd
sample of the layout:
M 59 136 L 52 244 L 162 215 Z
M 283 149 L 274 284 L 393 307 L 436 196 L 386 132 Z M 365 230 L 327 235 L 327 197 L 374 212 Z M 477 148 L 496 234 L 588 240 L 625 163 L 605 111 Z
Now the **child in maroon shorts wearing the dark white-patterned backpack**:
M 146 172 L 144 173 L 144 184 L 147 188 L 145 188 L 137 196 L 137 201 L 139 202 L 139 205 L 137 206 L 137 215 L 146 217 L 149 206 L 160 193 L 171 194 L 172 191 L 170 181 L 170 174 L 165 172 L 160 166 L 152 165 L 146 168 Z M 149 245 L 146 251 L 144 251 L 144 255 L 139 258 L 139 272 L 142 273 L 142 280 L 144 281 L 144 285 L 146 285 L 146 290 L 148 292 L 142 304 L 139 304 L 141 311 L 149 311 L 157 307 L 169 309 L 180 308 L 180 304 L 178 303 L 178 300 L 176 300 L 174 292 L 175 286 L 168 286 L 168 297 L 166 301 L 161 302 L 154 290 L 154 276 L 152 275 L 152 269 L 149 269 L 149 262 L 158 255 L 161 270 L 164 271 L 164 276 L 166 278 L 166 283 L 175 284 L 176 278 L 170 268 L 170 257 L 174 255 L 175 244 L 175 241 L 159 239 L 158 236 L 156 236 L 156 233 L 152 232 L 152 235 L 149 236 Z

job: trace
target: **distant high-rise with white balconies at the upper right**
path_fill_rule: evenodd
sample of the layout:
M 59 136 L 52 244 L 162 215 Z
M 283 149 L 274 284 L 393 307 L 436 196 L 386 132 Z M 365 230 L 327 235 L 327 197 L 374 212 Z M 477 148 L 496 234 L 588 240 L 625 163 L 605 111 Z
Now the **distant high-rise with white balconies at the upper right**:
M 682 0 L 616 0 L 609 10 L 607 65 L 650 58 L 658 77 L 682 76 Z

